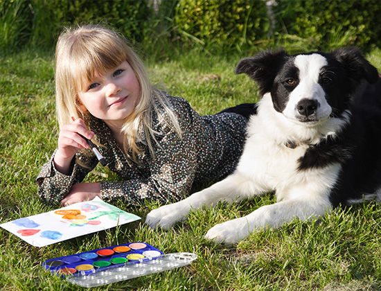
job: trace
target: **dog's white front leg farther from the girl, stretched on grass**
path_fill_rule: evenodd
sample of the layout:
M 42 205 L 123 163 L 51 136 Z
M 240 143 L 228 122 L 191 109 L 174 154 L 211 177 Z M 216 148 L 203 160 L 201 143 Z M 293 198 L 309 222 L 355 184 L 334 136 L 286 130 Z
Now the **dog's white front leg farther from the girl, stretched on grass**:
M 324 216 L 330 211 L 328 201 L 292 199 L 265 205 L 242 218 L 216 224 L 209 229 L 205 238 L 216 243 L 238 243 L 256 229 L 276 228 L 294 218 L 308 220 L 311 217 Z

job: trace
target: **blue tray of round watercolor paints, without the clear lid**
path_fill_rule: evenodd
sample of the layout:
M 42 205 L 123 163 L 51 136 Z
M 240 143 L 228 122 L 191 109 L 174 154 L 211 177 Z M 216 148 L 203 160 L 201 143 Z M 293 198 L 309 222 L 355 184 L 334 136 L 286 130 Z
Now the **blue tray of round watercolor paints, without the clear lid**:
M 159 249 L 147 243 L 136 242 L 53 258 L 42 263 L 42 266 L 62 277 L 68 275 L 87 276 L 125 265 L 152 261 L 161 255 L 163 252 Z

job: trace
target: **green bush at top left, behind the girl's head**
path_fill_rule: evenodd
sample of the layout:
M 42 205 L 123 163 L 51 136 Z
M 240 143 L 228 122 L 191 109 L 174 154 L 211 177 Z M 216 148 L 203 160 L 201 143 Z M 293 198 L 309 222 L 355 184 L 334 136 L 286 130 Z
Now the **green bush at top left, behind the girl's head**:
M 142 42 L 150 33 L 150 0 L 0 0 L 2 48 L 53 46 L 62 26 L 103 22 Z

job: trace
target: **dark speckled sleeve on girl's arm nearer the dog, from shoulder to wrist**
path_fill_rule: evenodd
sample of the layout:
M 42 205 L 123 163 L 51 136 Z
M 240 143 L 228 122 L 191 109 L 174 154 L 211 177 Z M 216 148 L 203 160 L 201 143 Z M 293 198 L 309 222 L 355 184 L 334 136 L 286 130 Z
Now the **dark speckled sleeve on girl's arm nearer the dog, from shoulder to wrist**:
M 176 202 L 190 193 L 197 172 L 197 126 L 201 118 L 184 100 L 176 107 L 180 137 L 174 130 L 157 137 L 154 159 L 147 159 L 149 174 L 136 173 L 124 182 L 100 182 L 103 200 L 124 199 L 130 204 L 143 200 Z M 198 127 L 200 128 L 200 127 Z

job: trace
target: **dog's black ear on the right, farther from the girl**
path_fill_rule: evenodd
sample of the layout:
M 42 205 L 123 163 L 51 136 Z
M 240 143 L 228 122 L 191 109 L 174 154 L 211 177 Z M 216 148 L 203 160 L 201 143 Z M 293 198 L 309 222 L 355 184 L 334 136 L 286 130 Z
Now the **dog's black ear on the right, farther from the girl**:
M 346 68 L 349 78 L 358 85 L 363 80 L 374 84 L 380 79 L 377 69 L 364 58 L 359 48 L 337 48 L 332 53 Z

